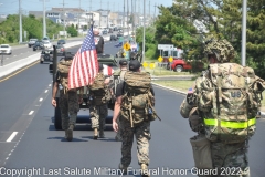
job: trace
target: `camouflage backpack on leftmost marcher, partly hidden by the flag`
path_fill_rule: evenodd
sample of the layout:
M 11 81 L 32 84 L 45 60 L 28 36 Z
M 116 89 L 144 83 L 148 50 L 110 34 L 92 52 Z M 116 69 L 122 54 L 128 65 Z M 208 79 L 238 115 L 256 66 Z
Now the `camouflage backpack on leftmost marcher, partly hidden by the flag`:
M 73 60 L 62 60 L 57 64 L 60 72 L 60 83 L 64 88 L 64 93 L 68 91 L 68 72 Z

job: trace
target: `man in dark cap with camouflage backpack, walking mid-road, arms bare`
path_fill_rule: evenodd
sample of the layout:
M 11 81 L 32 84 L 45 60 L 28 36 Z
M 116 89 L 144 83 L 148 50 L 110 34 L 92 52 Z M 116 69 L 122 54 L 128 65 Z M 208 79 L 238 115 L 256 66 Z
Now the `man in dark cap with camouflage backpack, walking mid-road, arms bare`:
M 150 74 L 140 72 L 140 62 L 132 60 L 129 62 L 129 71 L 126 72 L 124 82 L 120 82 L 117 86 L 113 116 L 114 131 L 118 132 L 119 128 L 121 131 L 123 143 L 119 169 L 124 170 L 124 173 L 127 173 L 131 162 L 135 135 L 141 175 L 142 177 L 149 177 L 150 122 L 156 118 L 153 118 L 153 106 L 155 97 Z M 119 124 L 117 119 L 119 119 Z

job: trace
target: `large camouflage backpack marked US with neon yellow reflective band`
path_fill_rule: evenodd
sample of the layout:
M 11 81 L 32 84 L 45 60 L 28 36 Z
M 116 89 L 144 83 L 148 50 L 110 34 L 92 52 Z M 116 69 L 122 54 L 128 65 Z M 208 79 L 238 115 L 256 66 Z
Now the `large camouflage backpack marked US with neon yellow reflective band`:
M 263 80 L 251 67 L 210 64 L 198 87 L 206 138 L 231 144 L 254 135 L 263 90 Z

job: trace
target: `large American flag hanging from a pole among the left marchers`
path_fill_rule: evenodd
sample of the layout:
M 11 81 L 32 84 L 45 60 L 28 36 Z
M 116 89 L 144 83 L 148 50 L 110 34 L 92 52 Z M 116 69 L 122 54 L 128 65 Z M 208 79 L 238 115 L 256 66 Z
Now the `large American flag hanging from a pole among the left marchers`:
M 93 83 L 97 73 L 97 53 L 94 42 L 93 28 L 91 28 L 70 67 L 68 90 L 89 85 Z

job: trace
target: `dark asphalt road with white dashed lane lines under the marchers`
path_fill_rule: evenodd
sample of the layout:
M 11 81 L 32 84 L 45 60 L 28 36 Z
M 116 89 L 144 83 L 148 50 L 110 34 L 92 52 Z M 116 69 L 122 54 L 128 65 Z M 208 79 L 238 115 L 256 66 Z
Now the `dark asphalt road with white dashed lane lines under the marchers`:
M 105 53 L 114 54 L 117 49 L 113 45 L 107 42 Z M 159 86 L 153 88 L 156 110 L 162 121 L 151 124 L 149 168 L 152 176 L 193 177 L 189 138 L 194 133 L 179 114 L 183 95 Z M 63 138 L 64 132 L 55 131 L 51 105 L 52 76 L 47 64 L 33 63 L 2 81 L 0 91 L 0 176 L 10 177 L 11 173 L 17 173 L 15 177 L 120 176 L 117 175 L 120 142 L 115 142 L 112 125 L 107 125 L 106 138 L 98 140 L 93 139 L 88 124 L 76 126 L 73 142 Z M 82 110 L 78 116 L 82 115 L 88 115 L 88 111 Z M 256 135 L 250 140 L 253 177 L 264 177 L 264 119 L 258 119 Z M 140 177 L 138 168 L 135 143 L 131 171 L 127 176 Z

